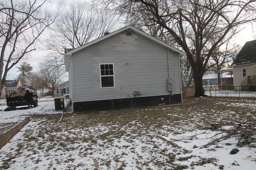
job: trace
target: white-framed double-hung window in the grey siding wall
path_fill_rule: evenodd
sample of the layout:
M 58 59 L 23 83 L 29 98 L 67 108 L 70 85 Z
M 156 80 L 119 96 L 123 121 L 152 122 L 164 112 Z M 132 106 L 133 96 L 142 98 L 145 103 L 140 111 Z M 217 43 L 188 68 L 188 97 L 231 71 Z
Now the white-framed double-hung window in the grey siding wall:
M 114 64 L 100 64 L 100 87 L 115 87 Z

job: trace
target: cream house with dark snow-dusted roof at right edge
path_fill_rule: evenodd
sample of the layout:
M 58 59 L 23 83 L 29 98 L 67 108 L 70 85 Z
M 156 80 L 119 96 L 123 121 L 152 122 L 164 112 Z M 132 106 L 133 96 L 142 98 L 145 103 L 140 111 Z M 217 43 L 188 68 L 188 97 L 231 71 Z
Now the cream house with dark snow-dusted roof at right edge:
M 256 40 L 244 44 L 231 67 L 235 90 L 256 91 Z

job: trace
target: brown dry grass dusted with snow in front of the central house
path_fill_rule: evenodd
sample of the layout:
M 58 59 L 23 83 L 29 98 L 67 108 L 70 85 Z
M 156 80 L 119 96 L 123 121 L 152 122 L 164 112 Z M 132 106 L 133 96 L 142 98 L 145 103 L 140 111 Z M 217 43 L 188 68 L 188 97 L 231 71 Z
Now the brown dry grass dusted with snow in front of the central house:
M 152 166 L 160 169 L 188 168 L 174 164 L 174 161 L 184 161 L 194 156 L 190 151 L 166 141 L 164 136 L 210 129 L 211 124 L 232 125 L 248 120 L 255 122 L 255 104 L 255 98 L 208 98 L 204 101 L 189 98 L 175 105 L 67 113 L 60 123 L 60 115 L 34 115 L 31 119 L 38 122 L 37 125 L 27 128 L 25 140 L 4 158 L 0 168 L 10 167 L 20 156 L 38 164 L 42 161 L 40 156 L 43 156 L 49 159 L 49 169 L 57 168 L 61 162 L 66 163 L 67 169 L 79 169 L 86 165 L 76 160 L 78 156 L 81 159 L 90 157 L 90 161 L 94 161 L 91 166 L 95 169 L 102 166 L 113 168 L 113 164 L 115 169 L 124 169 L 128 164 L 124 158 L 127 159 L 129 155 L 133 155 L 128 158 L 134 161 L 132 163 L 138 169 L 150 169 Z M 112 147 L 115 153 L 108 152 L 113 150 Z M 137 147 L 148 158 L 139 153 Z M 68 155 L 63 160 L 52 158 L 60 152 Z M 202 158 L 190 166 L 209 162 L 218 166 L 214 158 Z

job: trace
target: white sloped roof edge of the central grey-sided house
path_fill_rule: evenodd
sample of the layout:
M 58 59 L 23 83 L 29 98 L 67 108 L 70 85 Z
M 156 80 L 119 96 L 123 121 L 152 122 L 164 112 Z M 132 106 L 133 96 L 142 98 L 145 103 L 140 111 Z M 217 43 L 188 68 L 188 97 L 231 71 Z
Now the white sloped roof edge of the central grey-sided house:
M 77 47 L 77 48 L 75 48 L 75 49 L 72 49 L 72 50 L 70 50 L 70 51 L 67 51 L 67 52 L 65 53 L 65 55 L 66 55 L 66 56 L 72 55 L 72 53 L 75 53 L 75 52 L 77 52 L 77 51 L 80 51 L 81 49 L 84 49 L 84 48 L 86 48 L 86 47 L 88 47 L 88 46 L 90 46 L 90 45 L 93 45 L 93 44 L 95 44 L 95 43 L 98 43 L 99 41 L 102 41 L 102 40 L 104 40 L 104 39 L 107 39 L 108 37 L 111 37 L 111 36 L 113 36 L 113 35 L 116 35 L 116 34 L 122 32 L 122 31 L 126 31 L 127 29 L 130 29 L 130 30 L 134 31 L 134 32 L 136 32 L 136 33 L 138 33 L 138 34 L 140 34 L 140 35 L 142 35 L 142 36 L 144 36 L 144 37 L 146 37 L 146 38 L 148 38 L 148 39 L 150 39 L 150 40 L 152 40 L 152 41 L 154 41 L 154 42 L 156 42 L 156 43 L 158 43 L 158 44 L 160 44 L 160 45 L 162 45 L 162 46 L 164 46 L 164 47 L 166 47 L 166 48 L 168 48 L 168 49 L 170 49 L 170 50 L 172 50 L 172 51 L 175 52 L 175 53 L 179 53 L 180 55 L 185 55 L 185 53 L 184 53 L 183 51 L 180 51 L 179 49 L 176 49 L 175 47 L 172 47 L 171 45 L 168 45 L 167 43 L 164 43 L 163 41 L 161 41 L 161 40 L 159 40 L 159 39 L 157 39 L 157 38 L 155 38 L 155 37 L 153 37 L 153 36 L 151 36 L 151 35 L 145 33 L 144 31 L 141 31 L 140 29 L 138 29 L 138 28 L 136 28 L 136 27 L 134 27 L 134 26 L 132 26 L 132 25 L 128 25 L 128 26 L 123 27 L 123 28 L 121 28 L 121 29 L 118 29 L 118 30 L 116 30 L 116 31 L 114 31 L 114 32 L 112 32 L 112 33 L 108 33 L 107 35 L 104 35 L 104 36 L 102 36 L 102 37 L 100 37 L 100 38 L 98 38 L 98 39 L 95 39 L 94 41 L 91 41 L 91 42 L 89 42 L 89 43 L 86 43 L 86 44 L 84 44 L 84 45 L 82 45 L 82 46 L 80 46 L 80 47 Z

